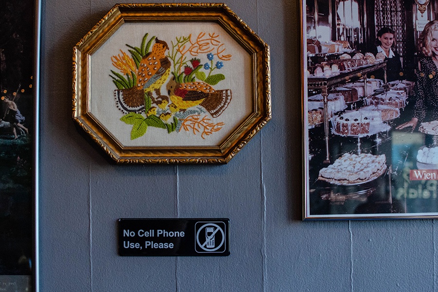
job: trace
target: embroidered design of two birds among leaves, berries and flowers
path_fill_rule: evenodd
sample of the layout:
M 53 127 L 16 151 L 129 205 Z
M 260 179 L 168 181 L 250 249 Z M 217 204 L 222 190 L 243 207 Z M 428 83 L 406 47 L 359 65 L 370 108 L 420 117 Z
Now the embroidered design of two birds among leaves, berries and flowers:
M 149 127 L 206 139 L 225 125 L 215 118 L 230 105 L 231 89 L 213 86 L 220 88 L 225 80 L 224 62 L 231 55 L 224 53 L 217 33 L 176 37 L 170 48 L 163 39 L 146 33 L 139 47 L 126 44 L 130 55 L 120 50 L 111 57 L 119 71 L 110 70 L 110 77 L 117 88 L 116 106 L 124 113 L 120 121 L 132 125 L 131 140 L 145 135 Z

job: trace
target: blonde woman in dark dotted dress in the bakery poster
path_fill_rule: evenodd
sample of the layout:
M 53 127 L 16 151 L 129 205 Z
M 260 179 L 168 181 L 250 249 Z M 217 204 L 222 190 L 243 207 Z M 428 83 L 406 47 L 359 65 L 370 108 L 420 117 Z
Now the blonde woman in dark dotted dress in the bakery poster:
M 418 51 L 422 57 L 416 72 L 414 117 L 398 129 L 415 129 L 421 122 L 438 120 L 438 20 L 424 27 L 418 39 Z

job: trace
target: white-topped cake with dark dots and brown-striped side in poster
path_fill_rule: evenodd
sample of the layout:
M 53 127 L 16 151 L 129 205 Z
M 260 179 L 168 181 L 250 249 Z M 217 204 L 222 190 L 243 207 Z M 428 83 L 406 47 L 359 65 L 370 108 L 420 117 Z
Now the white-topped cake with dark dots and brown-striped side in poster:
M 382 113 L 378 110 L 355 110 L 334 118 L 334 131 L 342 136 L 374 134 L 383 125 Z

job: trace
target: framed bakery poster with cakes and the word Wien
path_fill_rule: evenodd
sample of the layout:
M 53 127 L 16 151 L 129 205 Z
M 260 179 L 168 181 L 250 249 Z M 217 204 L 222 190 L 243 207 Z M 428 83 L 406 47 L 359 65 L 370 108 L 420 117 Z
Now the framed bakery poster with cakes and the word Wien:
M 438 0 L 301 0 L 304 219 L 438 217 Z

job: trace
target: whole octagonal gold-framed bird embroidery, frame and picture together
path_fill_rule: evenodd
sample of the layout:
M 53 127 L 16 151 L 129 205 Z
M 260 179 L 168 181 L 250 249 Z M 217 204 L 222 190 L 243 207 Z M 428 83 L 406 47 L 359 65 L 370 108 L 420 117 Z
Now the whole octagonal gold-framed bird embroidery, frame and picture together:
M 116 4 L 73 48 L 73 120 L 117 164 L 228 163 L 271 119 L 269 50 L 223 3 Z

